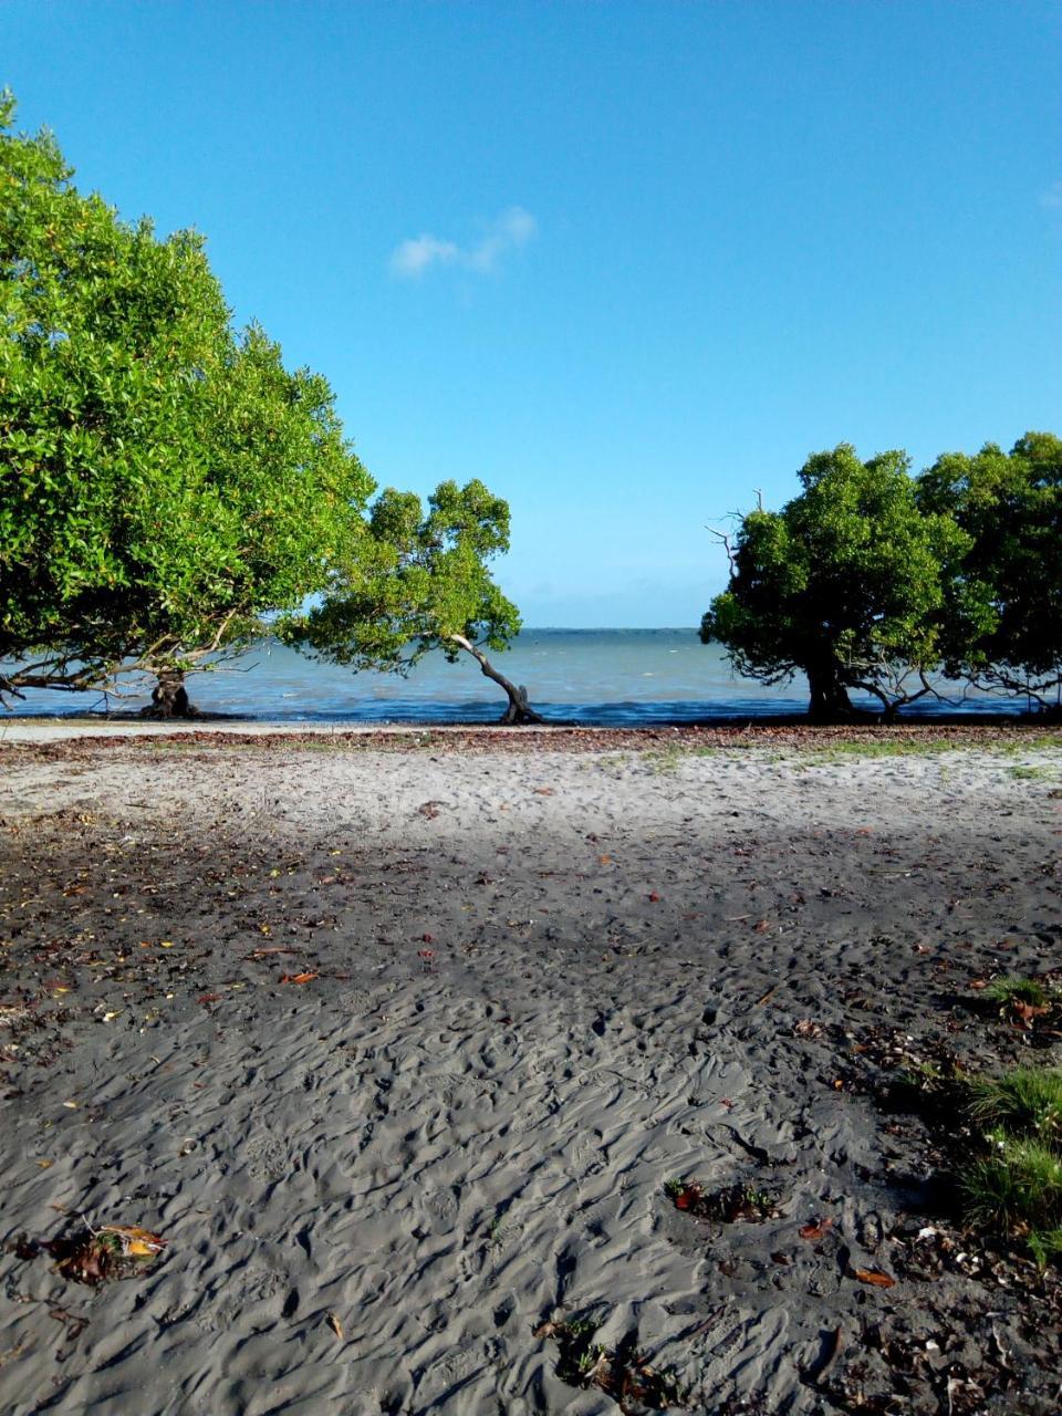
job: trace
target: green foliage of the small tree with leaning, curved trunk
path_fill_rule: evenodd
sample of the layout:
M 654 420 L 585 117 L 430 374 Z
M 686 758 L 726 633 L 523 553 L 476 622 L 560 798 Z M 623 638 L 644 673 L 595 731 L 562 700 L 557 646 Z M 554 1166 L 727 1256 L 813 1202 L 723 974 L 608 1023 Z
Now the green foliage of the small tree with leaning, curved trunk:
M 442 483 L 426 514 L 419 497 L 387 490 L 357 556 L 334 568 L 324 600 L 287 617 L 282 634 L 333 663 L 398 673 L 430 649 L 456 660 L 460 640 L 506 649 L 520 615 L 489 561 L 507 548 L 508 506 L 481 481 Z

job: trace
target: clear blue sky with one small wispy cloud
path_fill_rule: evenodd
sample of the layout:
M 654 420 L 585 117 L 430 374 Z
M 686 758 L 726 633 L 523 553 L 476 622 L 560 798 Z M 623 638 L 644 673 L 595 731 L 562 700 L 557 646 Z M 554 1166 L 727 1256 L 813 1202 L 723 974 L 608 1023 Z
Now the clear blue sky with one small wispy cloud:
M 78 181 L 194 225 L 528 624 L 692 624 L 813 449 L 1062 432 L 1059 3 L 0 0 Z

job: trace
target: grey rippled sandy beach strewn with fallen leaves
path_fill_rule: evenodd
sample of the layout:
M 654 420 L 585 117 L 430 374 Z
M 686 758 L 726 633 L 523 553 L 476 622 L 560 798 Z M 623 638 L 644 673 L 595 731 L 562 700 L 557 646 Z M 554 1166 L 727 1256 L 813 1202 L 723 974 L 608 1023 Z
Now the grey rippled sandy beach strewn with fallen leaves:
M 6 739 L 3 1409 L 650 1409 L 588 1317 L 666 1409 L 1058 1410 L 882 1087 L 1056 1055 L 970 983 L 1062 967 L 1062 733 L 920 732 Z M 25 1257 L 81 1215 L 163 1260 Z

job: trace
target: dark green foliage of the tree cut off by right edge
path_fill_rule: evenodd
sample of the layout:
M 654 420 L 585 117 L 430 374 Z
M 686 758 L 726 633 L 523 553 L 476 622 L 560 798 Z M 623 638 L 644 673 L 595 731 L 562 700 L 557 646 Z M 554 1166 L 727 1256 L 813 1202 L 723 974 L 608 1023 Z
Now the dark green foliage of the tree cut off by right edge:
M 1010 453 L 947 453 L 919 504 L 954 520 L 966 545 L 947 599 L 946 670 L 1046 702 L 1062 684 L 1062 439 L 1029 432 Z

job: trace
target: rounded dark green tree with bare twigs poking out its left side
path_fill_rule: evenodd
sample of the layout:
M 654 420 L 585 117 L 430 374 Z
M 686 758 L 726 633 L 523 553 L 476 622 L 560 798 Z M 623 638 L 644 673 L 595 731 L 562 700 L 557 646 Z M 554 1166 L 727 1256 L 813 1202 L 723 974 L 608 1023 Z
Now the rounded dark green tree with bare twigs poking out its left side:
M 800 496 L 742 518 L 729 585 L 701 639 L 762 683 L 804 673 L 820 719 L 851 715 L 850 688 L 888 714 L 926 692 L 940 658 L 943 566 L 966 541 L 950 517 L 919 510 L 908 466 L 902 452 L 864 463 L 847 443 L 809 457 Z

